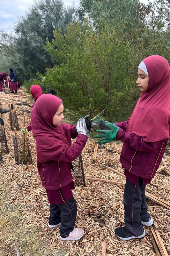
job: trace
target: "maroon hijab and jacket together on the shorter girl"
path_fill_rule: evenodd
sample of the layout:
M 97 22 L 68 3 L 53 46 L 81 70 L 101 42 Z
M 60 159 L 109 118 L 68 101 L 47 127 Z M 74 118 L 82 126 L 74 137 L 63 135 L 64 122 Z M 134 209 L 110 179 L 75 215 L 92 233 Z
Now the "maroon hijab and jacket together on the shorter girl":
M 37 167 L 42 186 L 56 190 L 73 182 L 71 161 L 85 147 L 87 136 L 78 134 L 75 125 L 53 125 L 53 116 L 62 100 L 52 94 L 41 95 L 31 112 L 36 143 Z M 76 138 L 71 146 L 71 138 Z

